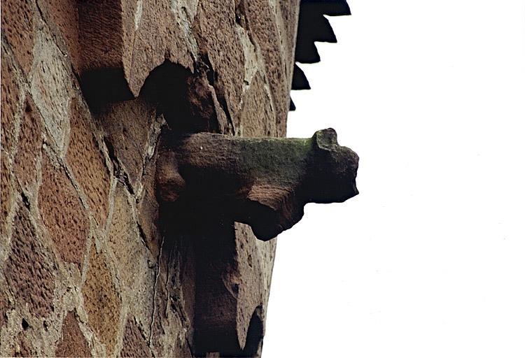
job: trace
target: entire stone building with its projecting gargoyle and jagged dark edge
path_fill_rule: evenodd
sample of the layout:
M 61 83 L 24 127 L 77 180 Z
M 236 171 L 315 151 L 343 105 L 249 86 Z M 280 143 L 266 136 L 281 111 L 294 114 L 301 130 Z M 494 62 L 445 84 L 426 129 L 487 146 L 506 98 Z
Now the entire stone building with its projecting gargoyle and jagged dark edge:
M 260 356 L 268 239 L 357 193 L 283 138 L 346 1 L 1 5 L 0 356 Z

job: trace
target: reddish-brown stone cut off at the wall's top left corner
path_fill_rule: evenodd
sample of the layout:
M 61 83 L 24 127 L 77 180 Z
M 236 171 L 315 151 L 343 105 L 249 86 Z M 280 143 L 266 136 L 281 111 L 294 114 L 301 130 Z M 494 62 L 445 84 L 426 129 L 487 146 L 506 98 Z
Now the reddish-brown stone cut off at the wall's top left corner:
M 31 0 L 4 0 L 2 10 L 2 33 L 5 34 L 24 72 L 29 73 L 33 62 L 36 6 Z

